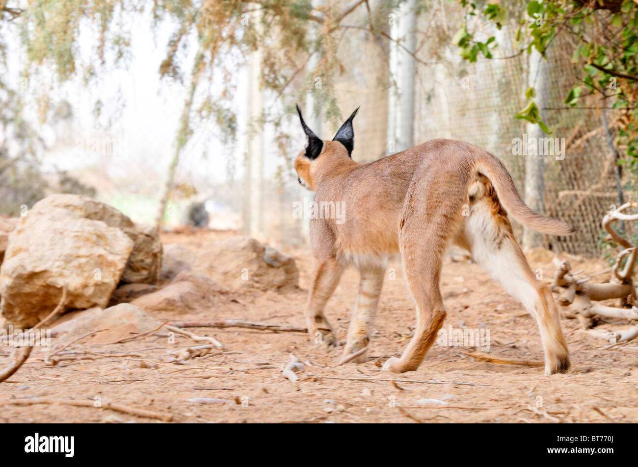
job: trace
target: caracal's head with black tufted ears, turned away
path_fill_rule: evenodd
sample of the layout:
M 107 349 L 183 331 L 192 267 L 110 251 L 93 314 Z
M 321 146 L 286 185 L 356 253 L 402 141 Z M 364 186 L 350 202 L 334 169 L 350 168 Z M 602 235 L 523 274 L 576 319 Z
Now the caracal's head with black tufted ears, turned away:
M 299 120 L 304 129 L 304 133 L 308 136 L 306 148 L 302 150 L 297 159 L 295 159 L 295 170 L 297 171 L 297 180 L 299 184 L 311 191 L 315 191 L 315 174 L 322 162 L 333 157 L 349 157 L 352 158 L 352 150 L 355 147 L 355 132 L 352 128 L 352 119 L 357 115 L 357 111 L 352 112 L 337 134 L 334 135 L 332 141 L 322 141 L 321 138 L 308 128 L 304 117 L 301 116 L 301 110 L 297 106 L 299 112 Z

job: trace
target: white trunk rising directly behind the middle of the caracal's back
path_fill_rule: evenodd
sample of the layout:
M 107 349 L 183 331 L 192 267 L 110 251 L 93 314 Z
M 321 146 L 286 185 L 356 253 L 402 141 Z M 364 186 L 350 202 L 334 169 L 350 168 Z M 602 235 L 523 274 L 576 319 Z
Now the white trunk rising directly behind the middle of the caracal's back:
M 414 145 L 414 83 L 416 0 L 401 3 L 390 25 L 390 94 L 388 96 L 388 154 Z M 409 52 L 408 52 L 409 51 Z M 394 86 L 396 85 L 396 86 Z

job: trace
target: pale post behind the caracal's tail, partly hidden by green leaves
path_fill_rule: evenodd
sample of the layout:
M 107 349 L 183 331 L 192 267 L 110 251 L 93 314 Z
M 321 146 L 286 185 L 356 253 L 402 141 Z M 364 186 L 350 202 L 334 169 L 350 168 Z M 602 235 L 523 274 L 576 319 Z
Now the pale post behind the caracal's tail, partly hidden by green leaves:
M 540 110 L 541 119 L 546 122 L 546 112 L 542 108 L 547 106 L 549 93 L 549 63 L 545 60 L 536 49 L 530 55 L 529 59 L 529 75 L 528 87 L 534 87 L 536 90 L 536 103 Z M 547 135 L 540 129 L 537 124 L 528 123 L 526 126 L 528 141 L 537 141 L 538 151 L 541 153 L 528 154 L 525 159 L 525 203 L 538 213 L 545 211 L 545 157 L 542 154 L 541 138 Z M 523 249 L 529 250 L 534 247 L 542 247 L 543 235 L 533 231 L 528 227 L 523 228 Z

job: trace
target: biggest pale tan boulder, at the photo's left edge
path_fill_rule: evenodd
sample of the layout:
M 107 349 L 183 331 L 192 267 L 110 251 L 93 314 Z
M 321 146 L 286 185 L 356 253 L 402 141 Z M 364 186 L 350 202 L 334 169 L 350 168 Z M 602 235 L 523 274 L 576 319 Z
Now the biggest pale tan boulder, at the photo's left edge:
M 63 284 L 66 308 L 106 306 L 132 250 L 133 240 L 101 220 L 34 208 L 10 234 L 0 267 L 6 324 L 38 323 L 59 302 Z

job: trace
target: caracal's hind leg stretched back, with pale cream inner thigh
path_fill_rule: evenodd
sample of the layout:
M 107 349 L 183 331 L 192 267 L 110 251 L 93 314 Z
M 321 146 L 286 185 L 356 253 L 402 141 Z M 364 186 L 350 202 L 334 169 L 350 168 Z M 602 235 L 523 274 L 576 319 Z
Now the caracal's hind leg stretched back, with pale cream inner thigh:
M 465 222 L 466 247 L 474 261 L 536 319 L 545 351 L 545 375 L 565 373 L 570 365 L 569 352 L 549 288 L 531 271 L 491 185 L 479 186 L 477 182 L 470 187 L 470 194 L 474 200 Z

